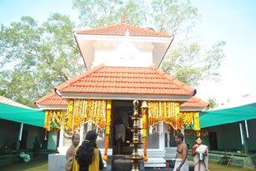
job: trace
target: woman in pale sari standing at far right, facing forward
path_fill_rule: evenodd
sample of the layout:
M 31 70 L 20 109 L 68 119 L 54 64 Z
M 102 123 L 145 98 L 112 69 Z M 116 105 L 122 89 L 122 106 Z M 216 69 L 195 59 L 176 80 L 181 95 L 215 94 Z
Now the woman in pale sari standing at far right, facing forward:
M 192 148 L 194 171 L 206 171 L 208 170 L 208 147 L 202 144 L 201 137 L 197 137 L 195 141 L 196 144 Z

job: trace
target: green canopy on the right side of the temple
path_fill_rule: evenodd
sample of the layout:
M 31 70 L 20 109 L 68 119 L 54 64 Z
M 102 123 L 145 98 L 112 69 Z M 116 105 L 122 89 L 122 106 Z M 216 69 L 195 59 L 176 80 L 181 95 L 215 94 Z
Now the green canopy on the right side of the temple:
M 200 127 L 224 125 L 243 120 L 256 119 L 256 103 L 241 105 L 238 107 L 203 111 L 199 115 Z

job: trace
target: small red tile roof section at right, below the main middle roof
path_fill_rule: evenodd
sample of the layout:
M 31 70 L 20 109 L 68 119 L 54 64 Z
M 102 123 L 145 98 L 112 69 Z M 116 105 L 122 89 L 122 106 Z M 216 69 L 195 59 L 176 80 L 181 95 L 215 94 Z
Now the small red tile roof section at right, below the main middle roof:
M 203 110 L 208 106 L 208 102 L 198 99 L 193 96 L 187 102 L 180 105 L 181 110 Z

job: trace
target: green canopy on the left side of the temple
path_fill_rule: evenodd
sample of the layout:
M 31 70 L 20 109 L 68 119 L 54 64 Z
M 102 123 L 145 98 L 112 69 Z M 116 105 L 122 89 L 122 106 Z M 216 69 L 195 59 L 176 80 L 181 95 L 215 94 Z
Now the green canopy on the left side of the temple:
M 44 111 L 0 103 L 0 119 L 43 127 Z

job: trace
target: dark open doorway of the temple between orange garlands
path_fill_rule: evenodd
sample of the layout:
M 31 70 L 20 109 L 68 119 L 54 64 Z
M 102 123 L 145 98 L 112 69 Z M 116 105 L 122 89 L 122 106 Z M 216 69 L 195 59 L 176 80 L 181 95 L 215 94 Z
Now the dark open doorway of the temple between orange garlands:
M 133 126 L 132 100 L 113 100 L 112 104 L 112 146 L 113 155 L 132 154 L 133 148 L 129 146 L 133 134 L 129 128 Z

